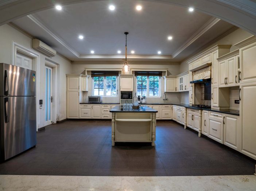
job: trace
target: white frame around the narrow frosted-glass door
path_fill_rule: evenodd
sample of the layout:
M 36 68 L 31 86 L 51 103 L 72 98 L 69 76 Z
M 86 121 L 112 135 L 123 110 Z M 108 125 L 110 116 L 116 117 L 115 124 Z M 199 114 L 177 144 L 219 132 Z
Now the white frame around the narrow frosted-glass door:
M 45 60 L 45 66 L 52 68 L 52 96 L 53 96 L 53 102 L 51 104 L 51 122 L 56 123 L 57 121 L 57 64 L 54 64 L 53 62 L 49 60 Z M 44 78 L 45 82 L 45 78 Z M 45 121 L 45 120 L 44 120 Z

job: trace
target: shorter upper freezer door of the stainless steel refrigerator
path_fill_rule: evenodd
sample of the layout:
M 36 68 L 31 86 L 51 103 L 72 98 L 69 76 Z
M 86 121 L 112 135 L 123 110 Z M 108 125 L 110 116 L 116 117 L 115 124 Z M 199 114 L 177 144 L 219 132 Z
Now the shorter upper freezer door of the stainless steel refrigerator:
M 35 96 L 36 72 L 1 63 L 0 96 Z M 3 87 L 3 89 L 2 89 Z

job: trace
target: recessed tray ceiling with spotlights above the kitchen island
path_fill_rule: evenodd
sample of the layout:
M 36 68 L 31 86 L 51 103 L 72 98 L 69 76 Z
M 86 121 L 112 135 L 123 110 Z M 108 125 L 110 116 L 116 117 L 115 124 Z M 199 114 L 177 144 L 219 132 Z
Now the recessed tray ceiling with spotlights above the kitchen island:
M 109 5 L 115 5 L 115 10 L 110 11 Z M 137 11 L 136 5 L 141 5 L 142 10 Z M 124 32 L 129 32 L 131 60 L 182 61 L 234 27 L 187 8 L 134 0 L 65 5 L 61 11 L 52 8 L 12 23 L 72 61 L 122 60 Z M 78 38 L 80 34 L 83 40 Z M 172 40 L 167 40 L 168 36 Z M 135 53 L 131 54 L 131 50 Z

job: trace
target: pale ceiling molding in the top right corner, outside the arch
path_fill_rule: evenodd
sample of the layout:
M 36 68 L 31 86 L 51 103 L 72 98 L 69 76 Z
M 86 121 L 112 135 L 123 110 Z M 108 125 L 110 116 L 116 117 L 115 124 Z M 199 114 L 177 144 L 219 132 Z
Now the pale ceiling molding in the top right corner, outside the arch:
M 230 0 L 217 0 L 217 1 L 220 1 L 222 3 L 225 3 L 225 4 L 228 4 L 228 5 L 231 5 L 233 7 L 236 7 L 238 9 L 241 9 L 243 11 L 246 11 L 248 13 L 251 13 L 252 15 L 256 16 L 256 7 L 253 7 L 255 6 L 255 3 L 249 1 L 249 0 L 243 0 L 243 1 L 238 1 L 238 0 L 233 0 L 233 1 L 230 1 Z M 244 1 L 247 1 L 247 3 L 245 4 Z M 249 4 L 251 6 L 249 6 Z

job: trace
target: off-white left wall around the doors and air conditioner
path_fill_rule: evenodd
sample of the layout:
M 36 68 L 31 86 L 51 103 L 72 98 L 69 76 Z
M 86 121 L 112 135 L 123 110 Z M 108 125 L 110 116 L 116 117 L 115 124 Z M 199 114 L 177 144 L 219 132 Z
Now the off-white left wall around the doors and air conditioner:
M 19 31 L 19 29 L 13 28 L 11 25 L 0 26 L 0 62 L 11 64 L 12 59 L 12 43 L 24 46 L 27 49 L 36 51 L 32 49 L 32 37 L 28 34 Z M 57 121 L 66 119 L 66 73 L 71 72 L 71 63 L 69 60 L 62 56 L 55 56 L 49 58 L 40 54 L 40 67 L 39 71 L 36 71 L 36 75 L 39 75 L 39 99 L 43 99 L 45 102 L 44 94 L 44 66 L 45 60 L 51 61 L 58 65 L 57 69 L 57 97 L 55 98 L 57 102 Z M 38 128 L 44 127 L 44 104 L 43 108 L 39 110 L 39 125 Z

